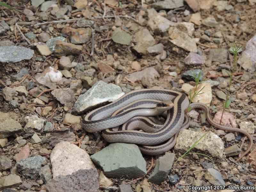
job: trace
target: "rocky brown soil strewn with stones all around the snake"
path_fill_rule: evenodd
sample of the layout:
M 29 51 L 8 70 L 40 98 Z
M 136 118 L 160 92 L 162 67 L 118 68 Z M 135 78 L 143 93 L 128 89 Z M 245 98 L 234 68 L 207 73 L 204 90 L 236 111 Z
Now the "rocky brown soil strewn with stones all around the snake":
M 0 192 L 256 191 L 255 0 L 4 2 L 23 13 L 0 7 Z M 249 140 L 201 110 L 159 156 L 83 130 L 89 111 L 142 88 L 203 88 L 193 102 L 250 133 L 251 151 L 236 163 Z

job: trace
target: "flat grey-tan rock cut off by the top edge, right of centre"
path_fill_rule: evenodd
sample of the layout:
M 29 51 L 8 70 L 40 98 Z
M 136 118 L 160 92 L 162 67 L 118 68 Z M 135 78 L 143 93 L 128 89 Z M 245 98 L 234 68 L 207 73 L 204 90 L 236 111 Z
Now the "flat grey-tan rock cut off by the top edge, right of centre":
M 164 0 L 158 1 L 152 4 L 152 7 L 159 10 L 159 9 L 176 9 L 178 7 L 184 6 L 183 0 Z

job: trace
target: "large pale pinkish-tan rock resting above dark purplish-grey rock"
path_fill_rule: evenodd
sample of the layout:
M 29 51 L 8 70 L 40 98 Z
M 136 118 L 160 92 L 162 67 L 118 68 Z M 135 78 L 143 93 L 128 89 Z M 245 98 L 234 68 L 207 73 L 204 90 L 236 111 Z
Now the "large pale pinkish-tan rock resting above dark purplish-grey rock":
M 53 178 L 71 175 L 78 170 L 96 169 L 83 149 L 66 141 L 61 141 L 52 149 L 50 159 Z

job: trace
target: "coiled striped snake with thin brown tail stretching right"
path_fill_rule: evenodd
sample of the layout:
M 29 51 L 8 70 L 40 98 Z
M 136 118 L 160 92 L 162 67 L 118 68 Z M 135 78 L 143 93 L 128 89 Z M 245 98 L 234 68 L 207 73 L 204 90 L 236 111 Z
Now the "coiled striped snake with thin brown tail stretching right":
M 110 143 L 133 143 L 140 146 L 142 153 L 159 155 L 170 150 L 176 143 L 178 133 L 188 128 L 190 122 L 187 116 L 188 107 L 190 110 L 196 108 L 204 110 L 207 121 L 213 127 L 229 132 L 240 132 L 248 137 L 250 146 L 236 161 L 250 152 L 253 140 L 248 132 L 214 122 L 207 105 L 189 104 L 188 97 L 184 93 L 167 89 L 139 89 L 128 92 L 118 100 L 89 112 L 84 116 L 82 126 L 87 132 L 102 131 L 103 138 Z M 163 113 L 165 122 L 162 125 L 156 125 L 149 118 Z M 145 132 L 125 128 L 132 121 L 137 121 L 142 130 L 144 127 L 151 127 L 151 130 Z M 118 129 L 120 125 L 123 126 Z

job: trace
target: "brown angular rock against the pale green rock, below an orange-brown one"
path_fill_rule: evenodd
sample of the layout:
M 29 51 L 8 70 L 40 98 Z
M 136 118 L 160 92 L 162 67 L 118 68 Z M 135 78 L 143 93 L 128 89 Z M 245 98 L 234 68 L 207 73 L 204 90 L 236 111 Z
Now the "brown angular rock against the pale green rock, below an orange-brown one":
M 82 50 L 83 50 L 82 45 L 75 45 L 72 43 L 66 43 L 64 41 L 57 40 L 53 53 L 56 56 L 78 55 L 82 52 Z

